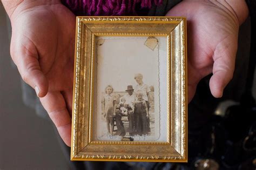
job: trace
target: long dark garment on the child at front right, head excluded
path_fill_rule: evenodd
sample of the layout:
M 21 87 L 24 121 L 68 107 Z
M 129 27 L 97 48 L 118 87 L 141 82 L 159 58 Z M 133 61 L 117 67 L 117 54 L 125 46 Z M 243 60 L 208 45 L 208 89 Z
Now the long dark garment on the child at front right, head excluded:
M 136 102 L 134 105 L 134 128 L 138 135 L 145 135 L 150 132 L 149 119 L 143 103 L 144 101 Z

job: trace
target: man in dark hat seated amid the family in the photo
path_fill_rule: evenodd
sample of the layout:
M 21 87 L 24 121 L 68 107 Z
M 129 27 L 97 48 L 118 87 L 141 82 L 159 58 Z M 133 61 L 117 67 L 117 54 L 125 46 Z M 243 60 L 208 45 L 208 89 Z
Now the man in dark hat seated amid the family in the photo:
M 127 90 L 125 90 L 127 93 L 120 98 L 120 104 L 127 108 L 127 117 L 129 120 L 129 128 L 128 131 L 130 135 L 134 134 L 134 117 L 133 117 L 133 111 L 134 111 L 134 101 L 136 100 L 135 94 L 133 94 L 133 87 L 132 85 L 127 86 Z

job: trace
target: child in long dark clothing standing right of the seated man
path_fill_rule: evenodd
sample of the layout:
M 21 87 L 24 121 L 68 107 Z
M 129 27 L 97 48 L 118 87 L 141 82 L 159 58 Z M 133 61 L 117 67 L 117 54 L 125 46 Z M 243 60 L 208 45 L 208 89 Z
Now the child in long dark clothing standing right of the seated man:
M 143 99 L 143 92 L 137 91 L 137 100 L 134 104 L 134 128 L 138 135 L 146 135 L 150 132 L 149 126 L 149 108 Z

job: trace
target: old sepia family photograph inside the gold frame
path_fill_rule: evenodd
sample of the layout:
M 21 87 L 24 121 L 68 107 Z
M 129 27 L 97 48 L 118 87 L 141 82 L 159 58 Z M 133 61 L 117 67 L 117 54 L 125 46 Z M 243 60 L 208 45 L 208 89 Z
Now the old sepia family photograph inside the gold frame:
M 97 37 L 93 138 L 159 141 L 166 136 L 159 100 L 159 51 L 166 45 L 161 42 L 164 38 Z

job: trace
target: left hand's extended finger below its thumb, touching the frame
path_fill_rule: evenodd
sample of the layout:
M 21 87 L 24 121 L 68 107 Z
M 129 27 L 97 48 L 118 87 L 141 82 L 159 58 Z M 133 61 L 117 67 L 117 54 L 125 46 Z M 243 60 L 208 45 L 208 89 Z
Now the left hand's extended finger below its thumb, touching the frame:
M 71 117 L 60 92 L 49 92 L 40 98 L 42 105 L 57 127 L 60 137 L 66 145 L 71 145 Z

